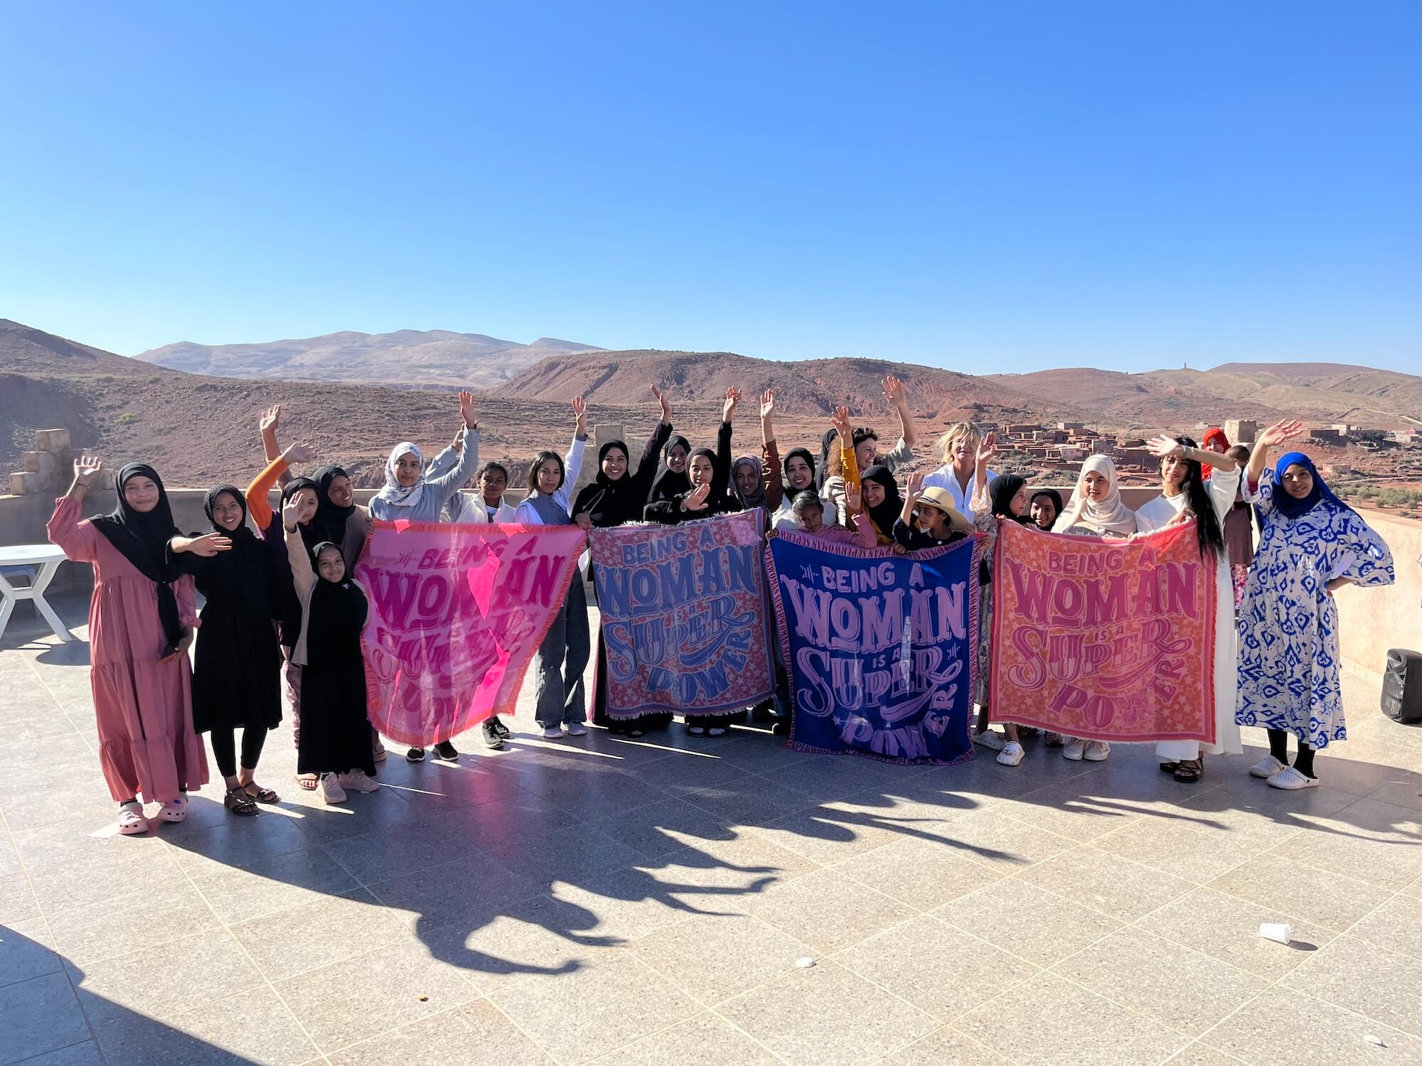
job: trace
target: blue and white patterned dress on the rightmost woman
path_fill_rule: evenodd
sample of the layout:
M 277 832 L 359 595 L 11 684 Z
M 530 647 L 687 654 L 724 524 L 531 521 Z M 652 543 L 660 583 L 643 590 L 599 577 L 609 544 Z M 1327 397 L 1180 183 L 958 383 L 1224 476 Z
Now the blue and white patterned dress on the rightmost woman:
M 1338 685 L 1338 607 L 1327 586 L 1392 584 L 1392 553 L 1357 512 L 1321 499 L 1297 519 L 1274 506 L 1266 469 L 1244 497 L 1263 516 L 1258 551 L 1240 607 L 1240 725 L 1287 729 L 1313 748 L 1348 736 Z

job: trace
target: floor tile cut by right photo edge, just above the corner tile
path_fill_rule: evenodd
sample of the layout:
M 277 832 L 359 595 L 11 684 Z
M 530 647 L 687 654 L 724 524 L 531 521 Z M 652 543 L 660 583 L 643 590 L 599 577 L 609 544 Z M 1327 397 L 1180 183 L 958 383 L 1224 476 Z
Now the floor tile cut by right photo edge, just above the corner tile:
M 1422 1036 L 1422 962 L 1354 937 L 1314 952 L 1280 984 Z

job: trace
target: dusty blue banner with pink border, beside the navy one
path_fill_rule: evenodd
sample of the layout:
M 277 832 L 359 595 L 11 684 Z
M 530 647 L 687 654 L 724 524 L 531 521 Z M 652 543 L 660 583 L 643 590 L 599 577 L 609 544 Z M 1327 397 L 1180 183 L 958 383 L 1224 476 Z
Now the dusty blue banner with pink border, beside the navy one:
M 771 695 L 761 510 L 589 533 L 609 718 L 725 715 Z

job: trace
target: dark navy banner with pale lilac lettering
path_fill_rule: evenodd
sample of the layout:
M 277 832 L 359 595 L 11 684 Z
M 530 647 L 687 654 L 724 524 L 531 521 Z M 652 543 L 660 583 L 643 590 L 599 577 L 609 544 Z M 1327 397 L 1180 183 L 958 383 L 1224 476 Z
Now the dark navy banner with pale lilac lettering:
M 896 554 L 776 533 L 766 549 L 801 750 L 973 758 L 983 536 Z

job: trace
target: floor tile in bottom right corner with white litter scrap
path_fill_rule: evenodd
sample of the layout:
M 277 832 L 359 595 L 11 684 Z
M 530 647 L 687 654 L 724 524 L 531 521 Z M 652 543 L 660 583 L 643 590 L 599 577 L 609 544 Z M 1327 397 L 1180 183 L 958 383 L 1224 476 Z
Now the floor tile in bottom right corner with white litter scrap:
M 1422 1040 L 1276 985 L 1204 1035 L 1203 1043 L 1240 1062 L 1277 1062 L 1280 1019 L 1307 1019 L 1308 1039 L 1288 1052 L 1290 1066 L 1376 1066 L 1422 1062 Z M 1379 1049 L 1364 1038 L 1382 1039 Z

